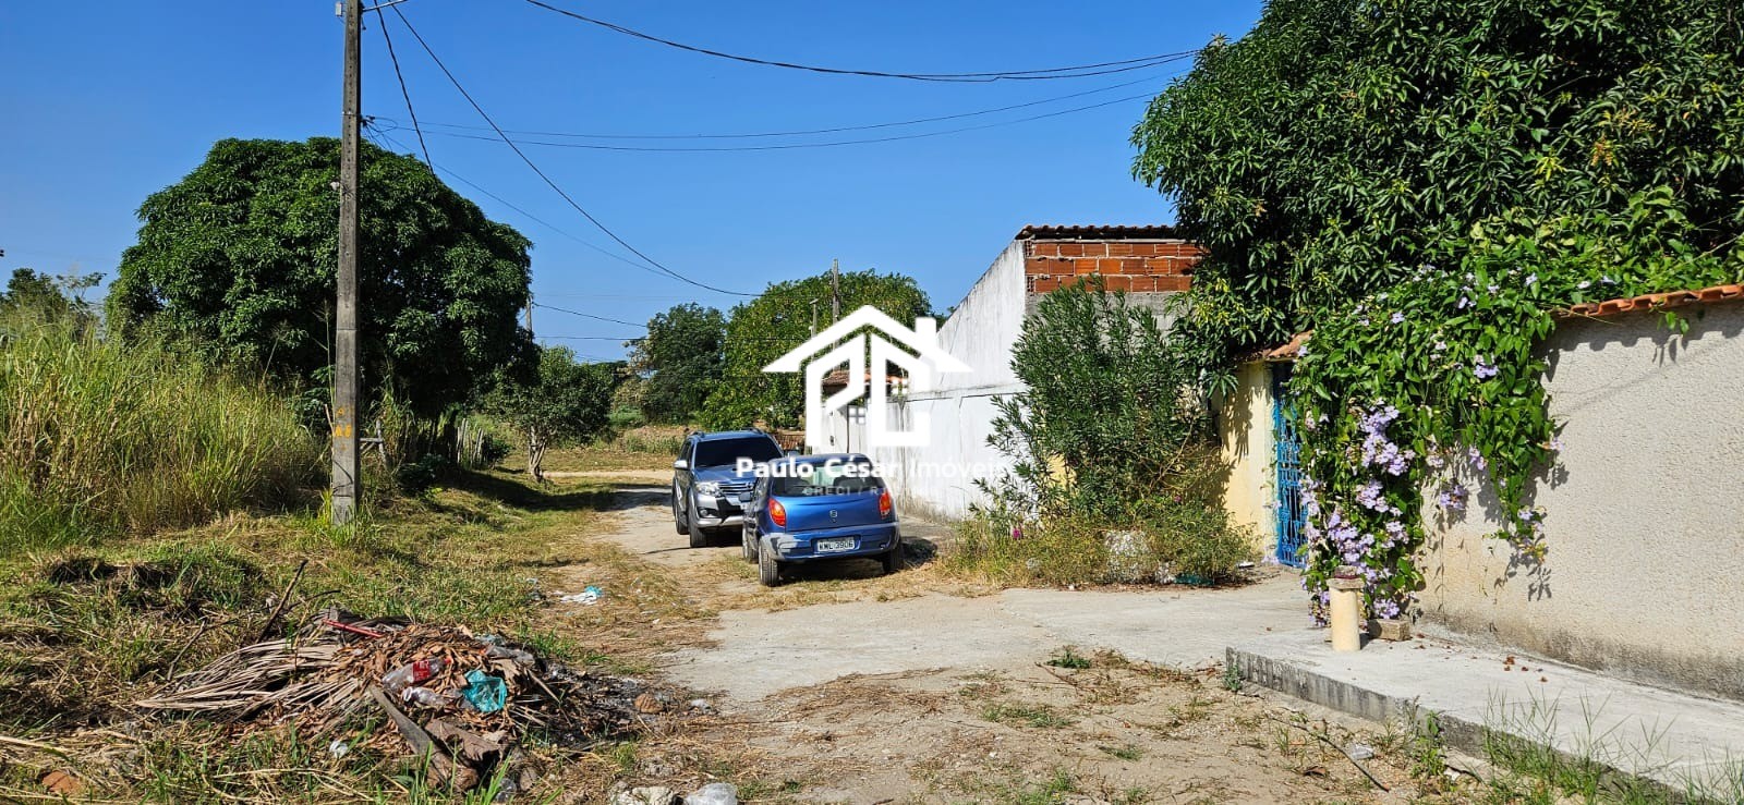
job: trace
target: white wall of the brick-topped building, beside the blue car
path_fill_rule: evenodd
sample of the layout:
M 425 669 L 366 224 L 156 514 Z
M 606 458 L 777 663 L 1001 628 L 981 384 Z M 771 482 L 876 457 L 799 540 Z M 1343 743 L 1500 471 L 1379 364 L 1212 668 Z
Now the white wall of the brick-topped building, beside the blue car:
M 938 345 L 973 371 L 938 375 L 938 389 L 891 406 L 898 429 L 909 429 L 916 413 L 931 418 L 926 448 L 879 448 L 874 455 L 898 507 L 935 519 L 963 518 L 980 500 L 971 476 L 1010 465 L 987 446 L 987 436 L 994 397 L 1022 390 L 1012 373 L 1012 347 L 1024 328 L 1024 242 L 1013 240 L 938 326 Z

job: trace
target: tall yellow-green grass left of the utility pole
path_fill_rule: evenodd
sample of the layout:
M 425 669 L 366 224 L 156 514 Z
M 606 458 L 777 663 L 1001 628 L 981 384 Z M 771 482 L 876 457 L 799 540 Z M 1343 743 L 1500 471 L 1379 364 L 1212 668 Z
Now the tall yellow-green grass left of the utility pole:
M 159 342 L 0 321 L 0 556 L 283 502 L 319 455 L 260 383 Z

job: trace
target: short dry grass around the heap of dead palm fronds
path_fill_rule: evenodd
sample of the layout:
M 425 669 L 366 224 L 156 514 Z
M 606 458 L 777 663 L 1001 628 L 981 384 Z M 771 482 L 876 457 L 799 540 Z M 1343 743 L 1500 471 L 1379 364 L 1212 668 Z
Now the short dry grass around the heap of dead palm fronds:
M 645 580 L 640 598 L 626 596 L 638 565 L 581 538 L 609 521 L 610 504 L 600 486 L 539 490 L 513 476 L 467 474 L 459 488 L 387 502 L 347 530 L 314 516 L 239 516 L 160 538 L 12 558 L 0 568 L 12 580 L 0 592 L 0 735 L 77 760 L 0 744 L 0 798 L 44 796 L 40 775 L 66 768 L 92 793 L 126 802 L 448 802 L 424 789 L 419 774 L 401 774 L 403 758 L 361 749 L 331 758 L 291 728 L 232 734 L 199 718 L 134 720 L 129 702 L 255 641 L 305 561 L 284 622 L 338 605 L 509 634 L 602 673 L 631 669 L 635 660 L 582 645 L 586 632 L 563 622 L 542 582 L 588 566 L 619 591 L 589 615 L 631 605 L 673 612 L 673 589 Z M 628 617 L 617 626 L 621 634 L 633 629 Z M 283 634 L 284 626 L 267 631 Z M 535 739 L 523 765 L 574 754 L 586 753 Z

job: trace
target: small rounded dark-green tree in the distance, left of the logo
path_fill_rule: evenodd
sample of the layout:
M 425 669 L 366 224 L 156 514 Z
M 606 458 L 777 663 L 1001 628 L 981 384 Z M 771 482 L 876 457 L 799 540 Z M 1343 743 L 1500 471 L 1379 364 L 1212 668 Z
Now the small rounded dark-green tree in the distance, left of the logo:
M 720 310 L 694 301 L 649 319 L 647 338 L 631 350 L 631 366 L 651 373 L 642 413 L 651 422 L 691 422 L 726 375 L 726 340 Z

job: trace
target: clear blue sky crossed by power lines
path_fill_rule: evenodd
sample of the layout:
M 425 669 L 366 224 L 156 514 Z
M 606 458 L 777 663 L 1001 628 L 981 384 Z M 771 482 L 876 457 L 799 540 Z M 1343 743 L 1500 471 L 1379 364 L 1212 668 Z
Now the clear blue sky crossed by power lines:
M 630 2 L 553 5 L 659 37 L 778 61 L 884 71 L 1032 70 L 1104 63 L 1240 37 L 1259 2 Z M 811 138 L 570 139 L 635 146 L 814 143 L 1005 122 L 1153 92 L 1186 63 L 1074 80 L 923 84 L 832 77 L 689 54 L 560 17 L 523 0 L 408 0 L 406 17 L 508 129 L 726 134 L 956 115 L 1074 92 L 1005 113 Z M 380 21 L 364 31 L 366 115 L 406 113 Z M 220 138 L 333 136 L 340 21 L 331 0 L 7 3 L 0 12 L 0 270 L 113 275 L 152 192 L 192 171 Z M 420 120 L 480 125 L 417 42 L 389 33 Z M 708 284 L 759 291 L 827 270 L 914 275 L 954 305 L 1025 223 L 1168 223 L 1132 181 L 1127 143 L 1142 99 L 893 143 L 769 152 L 528 155 L 628 242 Z M 384 122 L 384 125 L 392 125 Z M 459 181 L 487 214 L 527 233 L 539 301 L 645 321 L 678 301 L 738 301 L 637 270 L 502 146 L 434 134 L 433 160 L 567 232 Z M 443 131 L 478 134 L 467 129 Z M 392 131 L 415 146 L 410 129 Z M 537 139 L 537 138 L 528 138 Z M 551 139 L 551 138 L 546 138 Z M 537 310 L 541 336 L 591 357 L 623 354 L 637 328 Z

